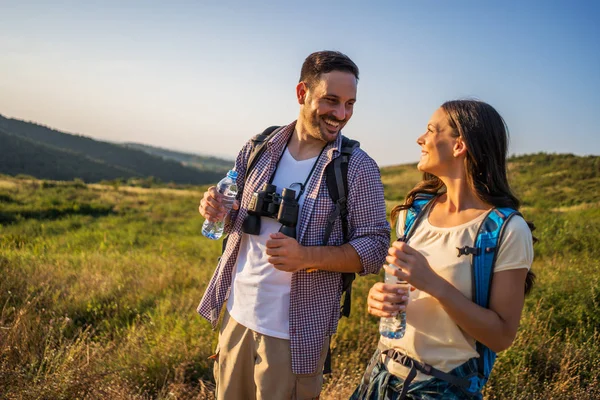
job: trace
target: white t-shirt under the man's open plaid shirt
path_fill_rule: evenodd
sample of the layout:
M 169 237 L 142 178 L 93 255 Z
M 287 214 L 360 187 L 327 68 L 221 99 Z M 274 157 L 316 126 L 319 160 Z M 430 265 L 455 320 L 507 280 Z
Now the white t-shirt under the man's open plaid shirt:
M 300 192 L 317 157 L 296 161 L 286 148 L 275 171 L 273 184 L 277 193 L 283 188 Z M 304 194 L 298 200 L 302 212 Z M 240 251 L 233 269 L 233 282 L 227 311 L 234 320 L 255 332 L 289 339 L 289 308 L 292 274 L 275 269 L 266 254 L 269 234 L 279 232 L 281 224 L 273 218 L 261 217 L 259 235 L 242 234 Z

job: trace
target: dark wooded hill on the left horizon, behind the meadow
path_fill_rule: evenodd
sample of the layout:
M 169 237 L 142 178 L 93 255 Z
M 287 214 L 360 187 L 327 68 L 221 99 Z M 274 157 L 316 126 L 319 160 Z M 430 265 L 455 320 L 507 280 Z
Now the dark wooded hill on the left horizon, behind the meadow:
M 0 115 L 0 173 L 86 182 L 153 176 L 163 182 L 207 184 L 217 182 L 223 170 L 191 168 L 173 157 Z

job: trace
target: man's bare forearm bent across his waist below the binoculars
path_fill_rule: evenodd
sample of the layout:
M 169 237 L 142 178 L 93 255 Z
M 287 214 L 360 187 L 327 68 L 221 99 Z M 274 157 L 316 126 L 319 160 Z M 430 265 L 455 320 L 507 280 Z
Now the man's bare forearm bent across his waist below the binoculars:
M 360 257 L 349 243 L 341 246 L 310 246 L 307 252 L 307 269 L 333 272 L 361 272 Z

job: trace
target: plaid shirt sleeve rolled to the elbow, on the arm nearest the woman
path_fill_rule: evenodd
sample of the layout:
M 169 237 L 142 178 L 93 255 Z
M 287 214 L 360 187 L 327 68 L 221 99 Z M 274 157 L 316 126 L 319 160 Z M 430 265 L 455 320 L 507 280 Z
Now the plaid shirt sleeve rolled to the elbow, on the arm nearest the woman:
M 349 243 L 362 263 L 359 274 L 378 273 L 390 244 L 390 224 L 379 167 L 362 150 L 356 150 L 348 164 L 348 224 Z

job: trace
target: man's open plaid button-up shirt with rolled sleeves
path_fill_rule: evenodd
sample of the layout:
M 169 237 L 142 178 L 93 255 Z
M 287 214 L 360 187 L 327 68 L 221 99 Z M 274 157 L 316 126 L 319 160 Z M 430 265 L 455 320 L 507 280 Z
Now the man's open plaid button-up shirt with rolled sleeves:
M 242 223 L 252 194 L 269 181 L 275 172 L 279 156 L 294 132 L 296 122 L 282 128 L 267 144 L 261 159 L 246 179 L 246 166 L 252 142 L 246 143 L 235 162 L 238 172 L 240 209 L 232 212 L 226 226 L 227 247 L 198 306 L 198 313 L 216 328 L 221 308 L 229 296 L 233 268 L 236 264 Z M 297 225 L 297 240 L 303 246 L 321 246 L 327 218 L 334 208 L 325 182 L 325 166 L 340 155 L 342 136 L 325 147 L 306 188 L 304 205 Z M 245 181 L 245 183 L 244 183 Z M 386 219 L 383 184 L 379 168 L 360 148 L 348 164 L 348 233 L 349 243 L 362 262 L 360 275 L 376 274 L 385 262 L 390 241 L 390 226 Z M 335 222 L 329 245 L 344 243 L 340 219 Z M 292 276 L 289 310 L 292 371 L 295 374 L 317 372 L 319 354 L 326 336 L 337 329 L 340 318 L 342 279 L 338 272 L 305 271 Z

